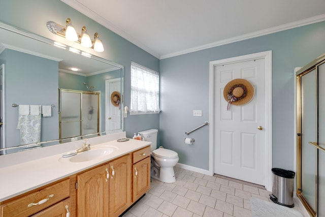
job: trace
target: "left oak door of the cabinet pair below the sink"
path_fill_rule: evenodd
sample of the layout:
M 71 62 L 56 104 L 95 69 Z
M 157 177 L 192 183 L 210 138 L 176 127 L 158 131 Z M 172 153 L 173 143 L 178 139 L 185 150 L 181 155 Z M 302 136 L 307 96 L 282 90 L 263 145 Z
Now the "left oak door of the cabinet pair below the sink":
M 77 176 L 77 215 L 78 217 L 108 217 L 109 165 L 103 165 Z

